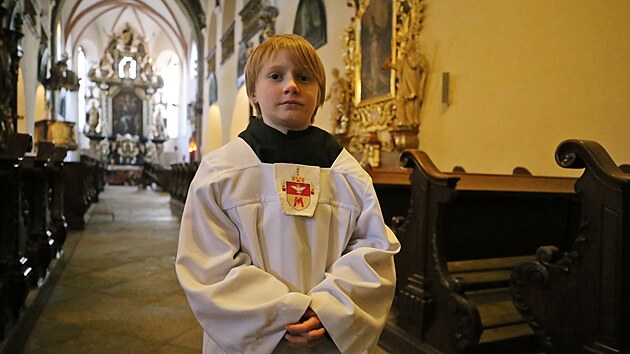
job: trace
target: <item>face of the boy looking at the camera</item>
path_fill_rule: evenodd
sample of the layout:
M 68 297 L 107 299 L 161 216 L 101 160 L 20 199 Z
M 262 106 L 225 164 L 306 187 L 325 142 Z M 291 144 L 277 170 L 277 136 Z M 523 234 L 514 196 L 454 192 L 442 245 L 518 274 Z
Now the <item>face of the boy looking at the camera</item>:
M 265 124 L 286 133 L 310 125 L 318 95 L 313 76 L 280 50 L 263 64 L 252 101 L 260 106 Z

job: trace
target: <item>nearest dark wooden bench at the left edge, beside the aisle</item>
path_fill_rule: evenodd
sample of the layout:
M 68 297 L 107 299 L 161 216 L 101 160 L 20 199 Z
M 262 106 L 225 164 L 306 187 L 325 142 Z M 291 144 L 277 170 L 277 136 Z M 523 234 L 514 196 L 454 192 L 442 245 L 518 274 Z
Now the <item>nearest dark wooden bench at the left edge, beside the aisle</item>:
M 0 352 L 20 353 L 61 276 L 65 148 L 10 133 L 0 144 Z

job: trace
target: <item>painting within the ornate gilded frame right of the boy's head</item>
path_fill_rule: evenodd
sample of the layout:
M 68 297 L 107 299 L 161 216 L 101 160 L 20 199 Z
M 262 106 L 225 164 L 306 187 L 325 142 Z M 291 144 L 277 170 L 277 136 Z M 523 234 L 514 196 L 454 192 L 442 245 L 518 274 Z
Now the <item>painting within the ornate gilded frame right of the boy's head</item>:
M 360 63 L 355 70 L 355 104 L 363 106 L 394 98 L 394 0 L 372 0 L 363 12 L 356 33 Z

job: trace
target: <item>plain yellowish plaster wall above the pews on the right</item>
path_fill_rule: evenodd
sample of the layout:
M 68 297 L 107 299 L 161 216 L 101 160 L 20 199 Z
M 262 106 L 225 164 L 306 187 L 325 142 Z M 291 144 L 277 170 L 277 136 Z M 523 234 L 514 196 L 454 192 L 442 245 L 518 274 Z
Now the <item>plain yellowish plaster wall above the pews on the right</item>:
M 567 138 L 596 140 L 630 162 L 630 2 L 426 4 L 421 40 L 432 67 L 420 147 L 439 168 L 574 175 L 554 161 Z M 442 72 L 453 79 L 449 107 Z

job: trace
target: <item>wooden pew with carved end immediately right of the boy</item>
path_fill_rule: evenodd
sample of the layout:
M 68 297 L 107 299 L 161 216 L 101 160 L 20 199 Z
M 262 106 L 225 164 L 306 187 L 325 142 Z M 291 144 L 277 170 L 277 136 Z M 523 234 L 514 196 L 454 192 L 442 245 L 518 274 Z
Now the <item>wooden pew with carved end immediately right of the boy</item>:
M 511 301 L 509 278 L 550 242 L 577 233 L 574 178 L 442 172 L 419 150 L 398 229 L 398 291 L 380 345 L 392 353 L 528 353 L 536 338 Z

